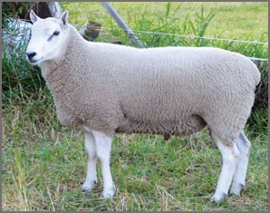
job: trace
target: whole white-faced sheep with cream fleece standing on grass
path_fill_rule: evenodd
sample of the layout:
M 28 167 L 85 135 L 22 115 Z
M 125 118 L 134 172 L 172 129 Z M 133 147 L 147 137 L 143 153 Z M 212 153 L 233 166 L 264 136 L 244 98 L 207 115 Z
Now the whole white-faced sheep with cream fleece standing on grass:
M 29 63 L 42 69 L 57 118 L 84 132 L 87 177 L 112 198 L 110 153 L 115 133 L 190 135 L 208 127 L 222 155 L 212 201 L 239 196 L 245 186 L 250 141 L 244 134 L 260 73 L 246 56 L 210 47 L 134 47 L 87 42 L 59 18 L 30 13 Z

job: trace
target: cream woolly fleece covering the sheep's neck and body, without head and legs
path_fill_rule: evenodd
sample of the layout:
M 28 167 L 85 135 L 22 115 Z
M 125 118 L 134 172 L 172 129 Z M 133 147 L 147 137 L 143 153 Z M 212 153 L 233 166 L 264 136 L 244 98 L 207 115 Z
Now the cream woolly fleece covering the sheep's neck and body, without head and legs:
M 260 81 L 246 56 L 209 47 L 92 43 L 71 24 L 65 34 L 62 55 L 40 64 L 63 125 L 175 135 L 207 125 L 228 145 L 244 129 Z

